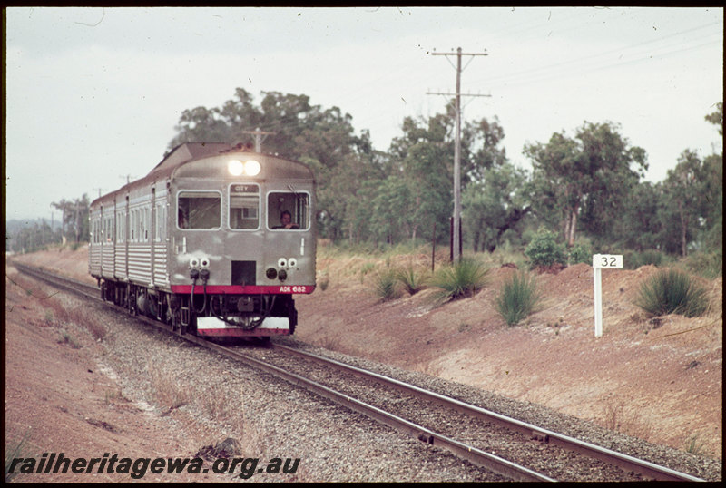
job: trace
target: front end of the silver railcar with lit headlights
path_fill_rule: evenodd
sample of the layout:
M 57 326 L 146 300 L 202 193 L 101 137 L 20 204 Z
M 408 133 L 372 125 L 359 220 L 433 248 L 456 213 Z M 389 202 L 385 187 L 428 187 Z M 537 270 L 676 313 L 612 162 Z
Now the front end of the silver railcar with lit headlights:
M 201 336 L 292 334 L 294 295 L 315 289 L 314 190 L 304 165 L 258 153 L 231 152 L 175 171 L 174 321 Z

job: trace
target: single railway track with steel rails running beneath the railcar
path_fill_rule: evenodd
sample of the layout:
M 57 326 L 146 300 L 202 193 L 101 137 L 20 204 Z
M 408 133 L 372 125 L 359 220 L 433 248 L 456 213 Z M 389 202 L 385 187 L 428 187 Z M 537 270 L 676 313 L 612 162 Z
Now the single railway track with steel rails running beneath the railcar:
M 100 300 L 93 286 L 25 265 L 16 268 Z M 226 347 L 183 337 L 513 480 L 704 481 L 298 348 L 274 342 L 269 348 Z

